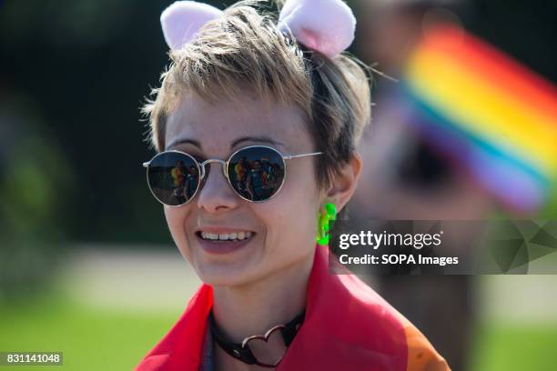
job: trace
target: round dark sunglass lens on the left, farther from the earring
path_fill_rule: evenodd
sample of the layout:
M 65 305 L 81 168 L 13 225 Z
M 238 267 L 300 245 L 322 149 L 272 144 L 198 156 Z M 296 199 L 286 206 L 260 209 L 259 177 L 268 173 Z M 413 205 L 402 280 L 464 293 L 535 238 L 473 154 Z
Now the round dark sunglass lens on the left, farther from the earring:
M 195 196 L 199 184 L 197 163 L 189 155 L 164 152 L 151 161 L 147 182 L 163 204 L 179 206 Z

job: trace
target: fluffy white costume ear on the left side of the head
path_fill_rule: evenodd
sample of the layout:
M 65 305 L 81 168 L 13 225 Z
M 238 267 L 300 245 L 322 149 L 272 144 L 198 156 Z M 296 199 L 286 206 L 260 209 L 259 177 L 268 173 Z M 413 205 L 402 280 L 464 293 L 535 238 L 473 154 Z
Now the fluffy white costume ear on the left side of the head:
M 165 40 L 170 49 L 180 49 L 191 41 L 197 31 L 212 19 L 222 15 L 214 6 L 195 1 L 177 1 L 160 15 Z

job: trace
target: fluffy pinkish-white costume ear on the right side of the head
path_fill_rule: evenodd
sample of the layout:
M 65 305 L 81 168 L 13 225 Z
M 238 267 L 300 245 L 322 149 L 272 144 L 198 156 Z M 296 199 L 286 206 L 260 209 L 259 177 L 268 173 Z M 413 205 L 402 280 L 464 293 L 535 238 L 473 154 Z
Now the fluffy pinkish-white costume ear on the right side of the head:
M 290 30 L 299 43 L 332 57 L 354 41 L 356 18 L 342 0 L 287 0 L 279 29 Z

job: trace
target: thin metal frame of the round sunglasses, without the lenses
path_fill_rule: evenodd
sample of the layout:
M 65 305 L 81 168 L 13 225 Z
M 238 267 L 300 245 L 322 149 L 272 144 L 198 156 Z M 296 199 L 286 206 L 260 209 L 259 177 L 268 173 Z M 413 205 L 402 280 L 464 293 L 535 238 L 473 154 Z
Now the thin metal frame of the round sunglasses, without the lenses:
M 230 181 L 230 177 L 228 176 L 228 165 L 229 165 L 230 160 L 232 159 L 232 157 L 237 155 L 239 152 L 244 151 L 244 150 L 249 149 L 249 148 L 270 149 L 271 151 L 276 152 L 280 156 L 280 158 L 282 158 L 282 162 L 284 163 L 284 176 L 282 177 L 282 181 L 280 182 L 279 189 L 277 189 L 277 192 L 275 192 L 272 196 L 270 196 L 270 197 L 268 197 L 264 200 L 253 201 L 253 200 L 250 200 L 250 199 L 240 195 L 238 193 L 238 191 L 234 188 L 234 186 L 232 186 L 232 182 Z M 189 197 L 185 203 L 180 204 L 180 205 L 168 205 L 168 204 L 165 204 L 164 202 L 162 202 L 161 200 L 159 200 L 158 197 L 155 195 L 155 192 L 153 192 L 153 189 L 151 188 L 151 183 L 149 182 L 149 167 L 150 167 L 151 163 L 158 156 L 164 155 L 164 154 L 167 154 L 167 153 L 177 153 L 177 154 L 180 154 L 180 155 L 187 155 L 197 165 L 197 172 L 199 173 L 199 180 L 197 181 L 196 192 L 194 192 L 194 194 L 191 197 Z M 323 155 L 323 152 L 312 152 L 312 153 L 309 153 L 309 154 L 301 154 L 301 155 L 282 155 L 278 149 L 273 148 L 273 147 L 268 146 L 268 145 L 248 145 L 248 146 L 245 146 L 245 147 L 240 148 L 237 151 L 233 152 L 232 155 L 229 155 L 227 161 L 221 160 L 219 158 L 208 158 L 207 160 L 203 161 L 202 163 L 199 163 L 199 161 L 197 161 L 197 159 L 193 155 L 189 155 L 186 152 L 177 151 L 177 150 L 173 149 L 173 150 L 168 150 L 168 151 L 163 151 L 163 152 L 158 153 L 157 155 L 153 156 L 153 158 L 151 158 L 151 160 L 149 160 L 147 162 L 144 162 L 143 167 L 147 168 L 147 186 L 149 186 L 149 191 L 151 191 L 151 194 L 155 197 L 155 199 L 164 206 L 180 207 L 180 206 L 184 206 L 184 205 L 188 204 L 189 201 L 194 199 L 197 196 L 197 193 L 201 190 L 201 188 L 203 188 L 203 186 L 205 184 L 205 181 L 207 180 L 205 178 L 205 175 L 207 174 L 206 171 L 205 171 L 205 165 L 208 165 L 210 163 L 219 163 L 220 165 L 222 165 L 222 174 L 224 175 L 225 179 L 227 179 L 228 186 L 230 186 L 232 188 L 232 190 L 234 191 L 234 193 L 238 197 L 240 197 L 243 200 L 246 200 L 248 202 L 261 203 L 261 202 L 266 202 L 266 201 L 270 200 L 274 196 L 277 196 L 279 194 L 280 190 L 282 189 L 282 186 L 284 186 L 284 183 L 286 182 L 286 179 L 287 179 L 287 176 L 288 176 L 287 175 L 287 160 L 292 160 L 294 158 L 307 157 L 307 156 L 310 156 L 310 155 Z

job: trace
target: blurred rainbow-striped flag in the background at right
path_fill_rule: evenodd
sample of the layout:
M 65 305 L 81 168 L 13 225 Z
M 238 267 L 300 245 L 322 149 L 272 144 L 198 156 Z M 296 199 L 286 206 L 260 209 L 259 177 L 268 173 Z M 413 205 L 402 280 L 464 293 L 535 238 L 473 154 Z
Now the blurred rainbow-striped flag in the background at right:
M 413 119 L 511 208 L 534 211 L 557 182 L 557 89 L 453 26 L 424 37 L 401 83 Z

